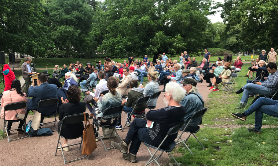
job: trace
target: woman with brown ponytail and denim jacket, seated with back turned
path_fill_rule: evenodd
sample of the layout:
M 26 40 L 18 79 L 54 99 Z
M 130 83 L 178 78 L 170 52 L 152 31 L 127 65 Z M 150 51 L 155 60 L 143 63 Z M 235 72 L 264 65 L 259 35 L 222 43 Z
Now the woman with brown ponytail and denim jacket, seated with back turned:
M 95 107 L 93 109 L 93 120 L 97 123 L 100 123 L 101 117 L 103 115 L 103 111 L 109 107 L 117 106 L 122 104 L 122 95 L 116 91 L 116 88 L 118 87 L 119 80 L 115 77 L 109 77 L 107 80 L 107 87 L 109 89 L 109 92 L 106 95 L 102 95 L 102 102 L 94 97 L 93 99 L 95 102 L 97 102 L 97 108 Z M 110 126 L 117 123 L 119 119 L 119 114 L 112 114 L 112 115 L 106 115 L 101 125 L 104 126 Z

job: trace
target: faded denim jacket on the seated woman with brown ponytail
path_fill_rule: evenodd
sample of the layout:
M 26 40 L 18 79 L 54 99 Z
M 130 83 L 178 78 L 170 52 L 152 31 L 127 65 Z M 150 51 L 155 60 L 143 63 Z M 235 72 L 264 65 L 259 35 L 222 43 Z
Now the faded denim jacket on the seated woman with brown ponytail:
M 113 95 L 111 92 L 107 93 L 102 97 L 102 102 L 100 100 L 97 101 L 97 107 L 99 108 L 101 113 L 98 114 L 96 118 L 101 118 L 105 109 L 121 104 L 122 95 L 119 92 L 116 92 L 116 95 Z M 113 116 L 117 116 L 117 114 L 106 115 L 104 116 L 104 119 L 112 118 Z

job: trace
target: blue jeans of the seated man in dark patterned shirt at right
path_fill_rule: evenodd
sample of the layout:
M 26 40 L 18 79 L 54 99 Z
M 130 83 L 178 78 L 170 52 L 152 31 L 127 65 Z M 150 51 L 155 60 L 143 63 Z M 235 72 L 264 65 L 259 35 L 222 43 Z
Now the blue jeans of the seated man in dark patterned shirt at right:
M 269 88 L 262 85 L 252 84 L 252 83 L 246 84 L 243 87 L 243 89 L 244 91 L 240 103 L 244 105 L 247 104 L 249 95 L 256 95 L 256 94 L 271 95 L 272 94 Z

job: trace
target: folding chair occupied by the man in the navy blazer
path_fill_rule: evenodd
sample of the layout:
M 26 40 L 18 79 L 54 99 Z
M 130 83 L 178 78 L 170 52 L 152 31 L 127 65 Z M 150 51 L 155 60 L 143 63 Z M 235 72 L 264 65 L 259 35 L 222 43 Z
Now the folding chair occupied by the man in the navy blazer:
M 44 112 L 40 112 L 39 111 L 41 107 L 51 106 L 51 105 L 54 106 L 55 104 L 56 104 L 56 110 L 55 110 L 55 112 L 53 111 L 54 112 L 53 114 L 45 115 L 45 114 L 43 114 Z M 53 122 L 54 122 L 54 126 L 55 126 L 56 122 L 58 124 L 58 121 L 57 121 L 57 118 L 56 118 L 57 110 L 58 110 L 58 105 L 59 105 L 58 98 L 51 98 L 51 99 L 40 100 L 38 102 L 38 109 L 37 109 L 37 111 L 42 114 L 41 117 L 51 117 L 51 116 L 54 116 L 55 120 Z M 49 110 L 49 111 L 51 112 L 52 110 Z M 53 122 L 47 122 L 47 123 L 53 123 Z M 47 123 L 42 123 L 42 125 L 47 124 Z M 53 130 L 53 131 L 57 131 L 57 130 Z

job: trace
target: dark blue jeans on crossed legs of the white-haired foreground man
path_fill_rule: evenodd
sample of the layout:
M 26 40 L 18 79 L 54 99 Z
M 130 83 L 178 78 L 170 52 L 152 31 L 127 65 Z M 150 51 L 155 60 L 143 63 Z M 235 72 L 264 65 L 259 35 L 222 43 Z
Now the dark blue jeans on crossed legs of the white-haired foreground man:
M 159 146 L 160 143 L 156 143 L 150 137 L 146 124 L 147 120 L 139 118 L 134 119 L 134 121 L 131 123 L 130 129 L 126 135 L 126 139 L 124 140 L 126 144 L 130 144 L 131 142 L 129 153 L 137 154 L 141 142 L 145 142 L 156 147 Z

